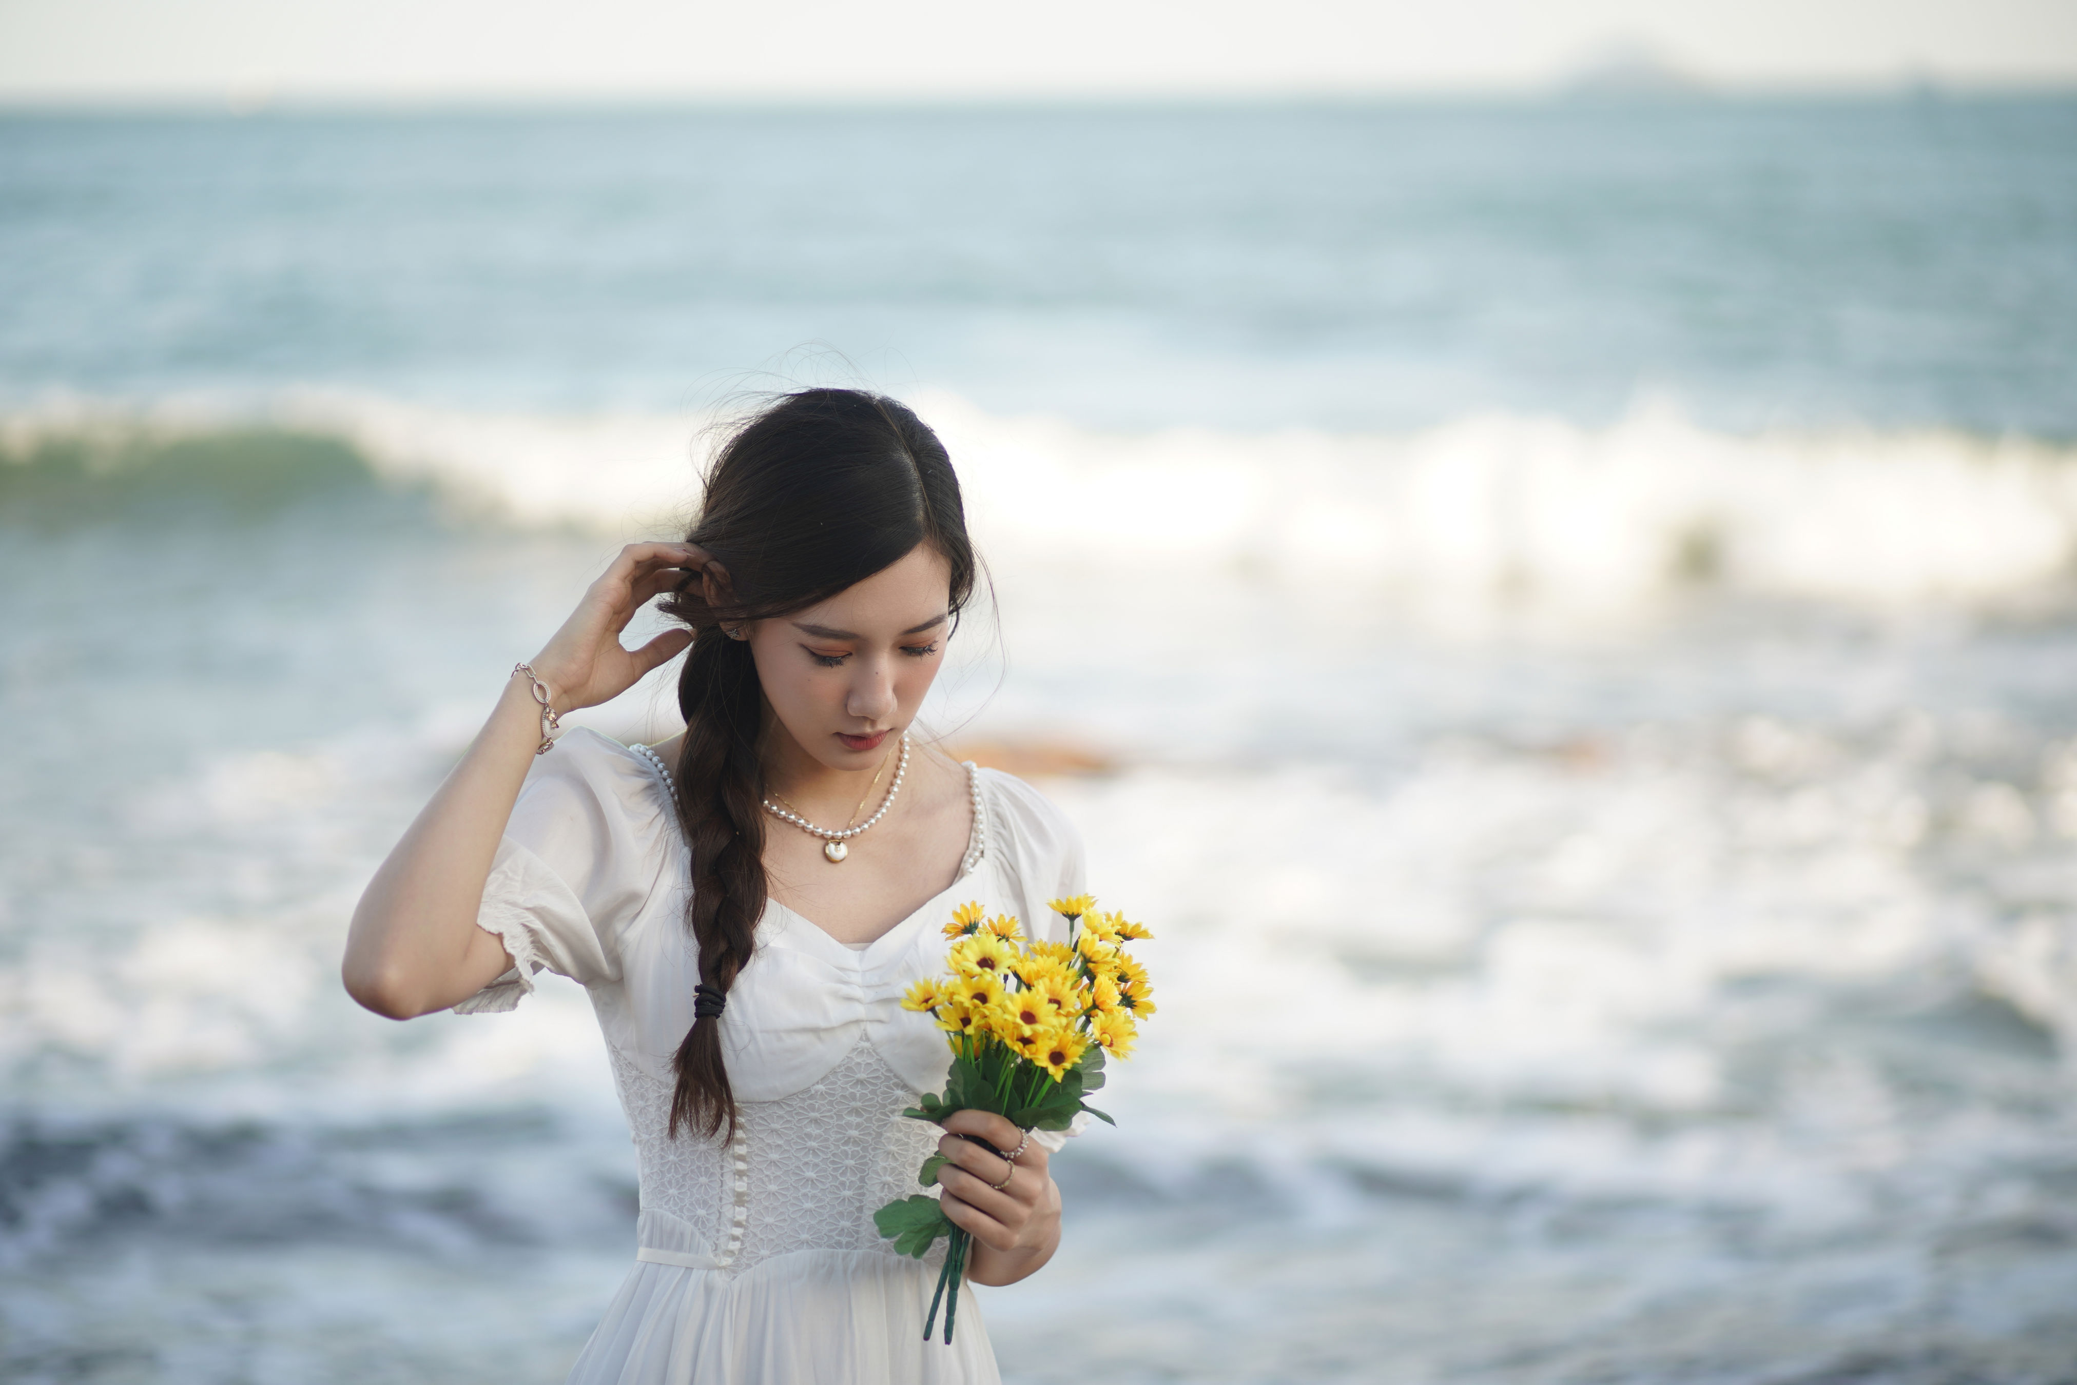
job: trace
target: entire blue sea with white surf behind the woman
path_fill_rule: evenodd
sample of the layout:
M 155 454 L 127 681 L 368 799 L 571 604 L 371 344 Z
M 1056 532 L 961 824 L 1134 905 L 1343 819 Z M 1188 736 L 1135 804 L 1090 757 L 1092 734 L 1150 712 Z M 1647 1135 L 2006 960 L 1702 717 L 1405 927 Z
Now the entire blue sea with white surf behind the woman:
M 1005 1381 L 2077 1381 L 2077 98 L 1932 87 L 0 114 L 0 1379 L 563 1379 L 586 997 L 347 918 L 827 382 L 1155 932 Z

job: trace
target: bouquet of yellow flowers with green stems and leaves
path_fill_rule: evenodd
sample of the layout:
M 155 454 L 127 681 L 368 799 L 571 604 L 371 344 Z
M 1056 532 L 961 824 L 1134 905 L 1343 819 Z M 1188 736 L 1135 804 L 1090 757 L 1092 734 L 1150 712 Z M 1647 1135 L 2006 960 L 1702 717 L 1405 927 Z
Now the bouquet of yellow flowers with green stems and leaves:
M 1068 1130 L 1082 1111 L 1111 1121 L 1084 1096 L 1103 1086 L 1105 1057 L 1128 1057 L 1138 1022 L 1155 1013 L 1147 968 L 1126 953 L 1126 943 L 1153 934 L 1122 914 L 1099 914 L 1088 895 L 1053 899 L 1047 907 L 1068 920 L 1066 943 L 1026 943 L 1014 916 L 982 918 L 978 903 L 953 912 L 945 924 L 949 974 L 916 982 L 901 1001 L 903 1009 L 937 1017 L 951 1044 L 951 1074 L 943 1096 L 924 1096 L 901 1115 L 943 1121 L 953 1111 L 993 1111 L 1018 1130 Z M 916 1182 L 935 1184 L 943 1163 L 943 1155 L 924 1159 Z M 947 1238 L 922 1337 L 930 1339 L 949 1289 L 945 1341 L 951 1343 L 972 1238 L 951 1225 L 930 1194 L 889 1202 L 872 1223 L 895 1250 L 918 1260 L 939 1235 Z

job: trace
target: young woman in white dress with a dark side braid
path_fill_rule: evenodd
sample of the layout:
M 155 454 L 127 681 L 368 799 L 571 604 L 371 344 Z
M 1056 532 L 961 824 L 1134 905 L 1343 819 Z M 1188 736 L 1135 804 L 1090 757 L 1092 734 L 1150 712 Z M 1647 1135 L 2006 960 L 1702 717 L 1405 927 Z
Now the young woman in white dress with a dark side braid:
M 968 1279 L 1014 1283 L 1059 1240 L 1057 1136 L 901 1117 L 949 1063 L 899 997 L 943 968 L 951 909 L 1063 941 L 1047 901 L 1082 891 L 1057 810 L 910 737 L 974 577 L 914 413 L 779 399 L 721 449 L 687 542 L 625 548 L 513 671 L 361 897 L 345 982 L 376 1013 L 511 1009 L 540 968 L 592 997 L 642 1211 L 571 1381 L 997 1379 L 972 1298 L 951 1346 L 922 1339 L 943 1250 L 903 1258 L 872 1227 L 935 1144 Z M 621 648 L 658 596 L 685 629 Z M 550 741 L 548 708 L 685 650 L 681 735 Z

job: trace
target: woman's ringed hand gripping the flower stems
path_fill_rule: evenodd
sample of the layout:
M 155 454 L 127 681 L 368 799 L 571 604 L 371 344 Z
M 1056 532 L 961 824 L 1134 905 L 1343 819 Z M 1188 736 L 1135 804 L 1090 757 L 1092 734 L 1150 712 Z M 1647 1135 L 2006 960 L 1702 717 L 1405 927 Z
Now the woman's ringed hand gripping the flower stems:
M 945 1190 L 939 1202 L 951 1225 L 974 1238 L 966 1277 L 974 1283 L 1016 1283 L 1051 1260 L 1059 1246 L 1059 1188 L 1047 1171 L 1049 1152 L 1036 1140 L 1024 1142 L 1022 1130 L 991 1111 L 953 1111 L 945 1130 L 951 1134 L 937 1142 L 937 1152 L 947 1159 L 937 1171 Z M 1003 1152 L 1024 1144 L 1024 1152 L 1011 1165 L 960 1136 L 978 1136 Z

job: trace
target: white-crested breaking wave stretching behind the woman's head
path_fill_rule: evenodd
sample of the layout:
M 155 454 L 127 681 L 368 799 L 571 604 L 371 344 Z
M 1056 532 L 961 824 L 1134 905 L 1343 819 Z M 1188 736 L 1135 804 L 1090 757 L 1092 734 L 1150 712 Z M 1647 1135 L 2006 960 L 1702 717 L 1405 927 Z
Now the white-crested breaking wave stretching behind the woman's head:
M 1093 432 L 918 397 L 997 563 L 1198 565 L 1414 602 L 1633 606 L 1693 590 L 1855 604 L 2058 592 L 2077 446 L 1957 432 L 1711 432 L 1477 415 L 1417 434 Z M 712 415 L 467 413 L 295 395 L 255 413 L 71 405 L 0 419 L 0 517 L 266 511 L 426 490 L 636 538 L 690 513 Z

